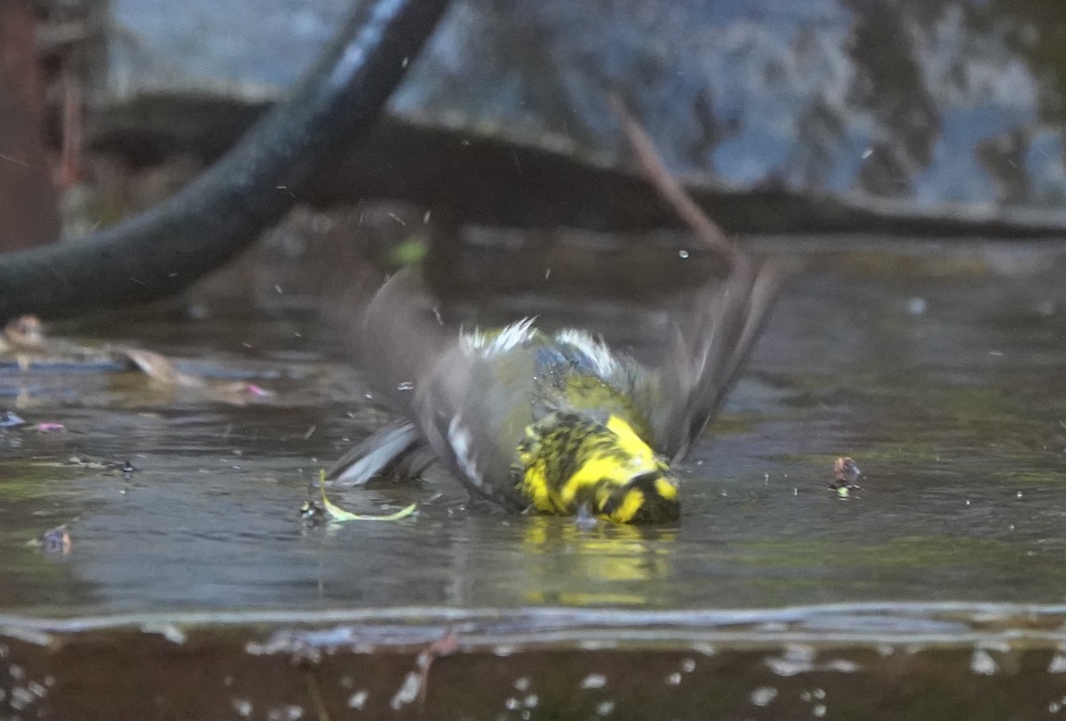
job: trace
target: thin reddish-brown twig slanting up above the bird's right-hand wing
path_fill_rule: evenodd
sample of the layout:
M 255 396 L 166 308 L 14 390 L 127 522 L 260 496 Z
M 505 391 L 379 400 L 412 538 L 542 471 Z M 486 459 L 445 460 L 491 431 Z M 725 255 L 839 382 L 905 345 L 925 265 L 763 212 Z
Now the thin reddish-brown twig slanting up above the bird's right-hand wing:
M 648 182 L 655 186 L 663 200 L 674 209 L 699 240 L 712 250 L 722 253 L 725 260 L 732 264 L 737 251 L 722 228 L 707 216 L 681 186 L 681 183 L 666 169 L 662 157 L 656 150 L 655 143 L 626 108 L 621 98 L 612 93 L 609 100 L 611 109 L 614 110 L 621 122 L 621 130 L 626 133 L 626 138 L 640 161 L 644 175 L 648 178 Z

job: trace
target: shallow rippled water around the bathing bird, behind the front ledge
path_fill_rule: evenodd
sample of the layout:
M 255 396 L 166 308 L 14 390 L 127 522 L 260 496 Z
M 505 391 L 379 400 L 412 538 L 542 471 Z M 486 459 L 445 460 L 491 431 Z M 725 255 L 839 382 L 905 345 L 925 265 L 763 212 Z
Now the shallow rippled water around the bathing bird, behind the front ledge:
M 382 416 L 306 312 L 93 329 L 275 395 L 4 365 L 0 406 L 29 423 L 0 430 L 0 611 L 1063 603 L 1062 253 L 908 248 L 805 255 L 685 463 L 683 518 L 653 528 L 467 508 L 447 479 L 334 492 L 354 511 L 418 503 L 414 519 L 309 526 L 308 485 Z M 596 323 L 639 335 L 611 310 Z M 838 455 L 865 472 L 847 499 L 826 488 Z M 28 544 L 61 523 L 69 553 Z

